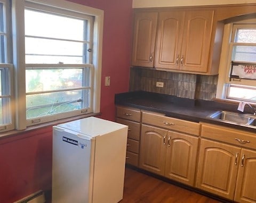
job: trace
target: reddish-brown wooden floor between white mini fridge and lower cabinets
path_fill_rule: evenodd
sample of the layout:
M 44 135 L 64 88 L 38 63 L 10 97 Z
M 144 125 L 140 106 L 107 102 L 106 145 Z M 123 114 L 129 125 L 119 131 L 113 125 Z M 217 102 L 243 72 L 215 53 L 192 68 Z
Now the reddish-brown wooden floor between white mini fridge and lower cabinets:
M 137 172 L 125 170 L 124 197 L 119 203 L 219 203 L 209 197 Z

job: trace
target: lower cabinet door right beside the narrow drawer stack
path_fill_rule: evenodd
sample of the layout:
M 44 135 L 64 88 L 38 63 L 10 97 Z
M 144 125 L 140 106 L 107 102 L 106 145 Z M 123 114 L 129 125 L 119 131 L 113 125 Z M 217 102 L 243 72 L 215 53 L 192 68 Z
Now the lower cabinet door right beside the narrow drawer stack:
M 164 175 L 167 130 L 142 125 L 139 166 L 147 171 Z

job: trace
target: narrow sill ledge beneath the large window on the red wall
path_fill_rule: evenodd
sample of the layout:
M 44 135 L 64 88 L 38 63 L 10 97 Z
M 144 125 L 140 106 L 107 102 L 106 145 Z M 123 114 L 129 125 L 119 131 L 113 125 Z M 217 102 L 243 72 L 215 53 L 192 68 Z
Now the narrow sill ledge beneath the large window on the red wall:
M 10 131 L 6 131 L 6 132 L 2 132 L 2 133 L 0 133 L 0 140 L 5 139 L 5 138 L 9 138 L 9 137 L 19 136 L 21 133 L 22 134 L 23 133 L 28 133 L 28 132 L 31 132 L 31 131 L 34 131 L 34 130 L 48 128 L 48 127 L 58 125 L 58 124 L 61 124 L 61 123 L 66 123 L 66 122 L 75 121 L 75 120 L 78 120 L 78 119 L 84 119 L 85 117 L 99 116 L 99 115 L 101 115 L 101 113 L 90 113 L 90 114 L 74 116 L 74 117 L 69 117 L 69 118 L 66 118 L 66 119 L 60 119 L 60 120 L 56 120 L 56 121 L 52 121 L 52 122 L 41 123 L 41 124 L 38 124 L 38 125 L 29 126 L 25 130 L 10 130 Z M 30 137 L 30 136 L 28 136 L 28 137 Z M 22 137 L 22 138 L 24 138 L 24 137 Z M 0 143 L 2 143 L 2 142 L 0 142 Z

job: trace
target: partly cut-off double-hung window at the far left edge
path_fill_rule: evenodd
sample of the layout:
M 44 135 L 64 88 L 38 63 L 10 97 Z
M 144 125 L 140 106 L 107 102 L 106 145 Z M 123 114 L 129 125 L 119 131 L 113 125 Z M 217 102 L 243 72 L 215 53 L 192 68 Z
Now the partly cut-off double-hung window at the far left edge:
M 13 129 L 9 1 L 0 0 L 0 131 Z

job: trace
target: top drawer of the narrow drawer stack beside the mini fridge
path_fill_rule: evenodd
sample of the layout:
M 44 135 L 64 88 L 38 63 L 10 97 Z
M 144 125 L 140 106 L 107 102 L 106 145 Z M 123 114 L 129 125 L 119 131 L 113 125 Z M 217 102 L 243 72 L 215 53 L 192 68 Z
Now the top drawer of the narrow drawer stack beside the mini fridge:
M 140 122 L 141 113 L 139 109 L 117 106 L 116 117 Z

